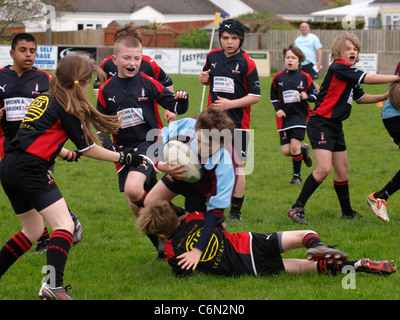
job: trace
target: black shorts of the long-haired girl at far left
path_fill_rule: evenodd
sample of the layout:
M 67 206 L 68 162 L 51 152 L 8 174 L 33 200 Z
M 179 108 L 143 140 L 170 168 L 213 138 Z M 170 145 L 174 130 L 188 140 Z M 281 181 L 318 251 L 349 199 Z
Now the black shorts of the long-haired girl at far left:
M 21 151 L 8 153 L 1 161 L 1 184 L 16 214 L 42 211 L 62 199 L 48 167 L 46 161 Z

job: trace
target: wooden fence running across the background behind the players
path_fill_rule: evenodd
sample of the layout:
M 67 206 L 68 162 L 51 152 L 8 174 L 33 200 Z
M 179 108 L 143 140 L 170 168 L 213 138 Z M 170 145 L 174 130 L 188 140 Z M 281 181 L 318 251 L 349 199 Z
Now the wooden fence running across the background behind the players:
M 312 30 L 321 40 L 323 46 L 323 65 L 328 65 L 328 57 L 333 40 L 344 30 Z M 393 73 L 393 65 L 400 61 L 400 30 L 349 30 L 361 41 L 361 52 L 378 53 L 379 73 Z M 143 45 L 149 47 L 175 47 L 174 39 L 179 33 L 167 30 L 148 30 L 143 33 Z M 292 44 L 297 30 L 270 30 L 267 33 L 248 33 L 243 44 L 244 50 L 267 50 L 270 52 L 271 68 L 283 68 L 282 49 Z M 38 44 L 46 44 L 46 34 L 34 33 Z M 73 45 L 85 47 L 107 46 L 107 34 L 102 30 L 80 30 L 70 32 L 53 32 L 53 45 Z M 214 37 L 213 48 L 219 48 L 218 31 Z M 324 68 L 324 69 L 325 69 Z M 325 70 L 321 72 L 324 72 Z

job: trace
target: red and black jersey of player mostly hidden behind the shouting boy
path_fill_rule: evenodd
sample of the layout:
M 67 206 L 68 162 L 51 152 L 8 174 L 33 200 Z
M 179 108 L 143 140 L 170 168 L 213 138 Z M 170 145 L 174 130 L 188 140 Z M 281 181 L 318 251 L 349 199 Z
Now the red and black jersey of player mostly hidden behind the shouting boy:
M 107 79 L 118 74 L 118 68 L 115 65 L 114 61 L 112 60 L 112 56 L 105 58 L 100 65 L 100 68 L 107 75 Z M 142 55 L 142 63 L 140 64 L 139 71 L 147 74 L 148 76 L 156 79 L 160 82 L 164 87 L 170 88 L 174 84 L 172 79 L 165 73 L 165 71 L 155 62 L 151 57 Z M 99 89 L 97 85 L 97 79 L 93 85 L 94 89 Z

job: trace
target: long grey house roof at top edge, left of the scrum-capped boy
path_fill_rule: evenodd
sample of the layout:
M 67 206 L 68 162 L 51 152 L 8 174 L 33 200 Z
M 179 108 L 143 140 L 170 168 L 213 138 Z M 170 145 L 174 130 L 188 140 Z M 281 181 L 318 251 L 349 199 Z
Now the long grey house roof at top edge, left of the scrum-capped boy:
M 208 0 L 71 0 L 77 12 L 133 13 L 146 6 L 162 14 L 210 14 L 224 12 Z

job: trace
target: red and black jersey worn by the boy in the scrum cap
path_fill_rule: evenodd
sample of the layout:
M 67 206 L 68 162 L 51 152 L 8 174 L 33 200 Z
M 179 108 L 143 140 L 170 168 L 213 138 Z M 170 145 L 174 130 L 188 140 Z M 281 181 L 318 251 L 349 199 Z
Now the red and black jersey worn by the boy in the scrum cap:
M 261 96 L 260 80 L 256 64 L 249 55 L 240 50 L 232 57 L 226 57 L 224 50 L 215 49 L 208 53 L 203 71 L 210 72 L 208 105 L 218 97 L 236 100 L 247 95 Z M 251 107 L 227 110 L 236 128 L 250 128 Z

